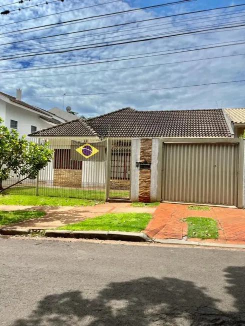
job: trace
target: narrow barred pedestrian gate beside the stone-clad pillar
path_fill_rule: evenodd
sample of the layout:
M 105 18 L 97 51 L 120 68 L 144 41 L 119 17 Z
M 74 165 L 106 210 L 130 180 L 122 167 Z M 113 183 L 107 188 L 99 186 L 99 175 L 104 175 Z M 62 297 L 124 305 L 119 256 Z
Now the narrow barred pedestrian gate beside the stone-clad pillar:
M 130 198 L 131 139 L 110 139 L 109 198 Z

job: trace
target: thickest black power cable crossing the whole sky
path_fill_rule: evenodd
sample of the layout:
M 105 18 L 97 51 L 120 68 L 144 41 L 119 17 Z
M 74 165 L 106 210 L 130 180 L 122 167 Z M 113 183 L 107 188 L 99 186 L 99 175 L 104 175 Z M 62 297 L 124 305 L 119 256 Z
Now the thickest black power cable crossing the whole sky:
M 62 51 L 53 51 L 53 52 L 35 53 L 35 54 L 27 54 L 27 55 L 21 55 L 21 56 L 7 57 L 7 58 L 0 59 L 0 61 L 18 59 L 18 58 L 24 58 L 24 57 L 30 57 L 30 56 L 39 56 L 39 55 L 56 54 L 56 53 L 66 53 L 66 52 L 72 52 L 72 51 L 78 51 L 78 50 L 85 50 L 85 49 L 91 49 L 91 48 L 100 48 L 100 47 L 108 47 L 108 46 L 122 45 L 122 44 L 130 44 L 130 43 L 136 43 L 136 42 L 145 42 L 145 41 L 150 41 L 150 40 L 159 40 L 159 39 L 168 38 L 168 37 L 196 34 L 196 33 L 202 32 L 202 31 L 235 28 L 235 27 L 240 27 L 240 26 L 245 26 L 245 24 L 240 24 L 240 25 L 235 25 L 235 26 L 215 27 L 215 28 L 203 29 L 203 30 L 198 30 L 198 31 L 189 31 L 189 32 L 185 32 L 185 33 L 157 36 L 157 37 L 151 37 L 151 38 L 145 38 L 145 39 L 136 39 L 136 40 L 126 41 L 126 42 L 117 42 L 117 43 L 113 43 L 113 44 L 107 44 L 108 42 L 106 42 L 106 44 L 103 44 L 103 45 L 94 45 L 94 46 L 90 46 L 90 45 L 93 45 L 93 44 L 88 44 L 89 46 L 76 48 L 76 49 L 66 49 L 66 50 L 62 50 Z

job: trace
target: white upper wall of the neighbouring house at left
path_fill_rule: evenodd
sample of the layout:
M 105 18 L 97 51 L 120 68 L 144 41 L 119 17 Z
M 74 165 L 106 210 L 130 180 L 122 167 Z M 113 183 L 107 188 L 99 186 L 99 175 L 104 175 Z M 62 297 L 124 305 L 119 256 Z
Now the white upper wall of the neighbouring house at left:
M 4 124 L 6 127 L 10 128 L 10 120 L 15 120 L 18 122 L 17 132 L 20 136 L 27 135 L 31 131 L 31 126 L 35 126 L 36 130 L 50 127 L 50 124 L 45 123 L 40 119 L 40 114 L 38 112 L 34 113 L 10 103 L 3 102 L 6 105 Z M 2 104 L 0 105 L 0 113 L 2 110 Z

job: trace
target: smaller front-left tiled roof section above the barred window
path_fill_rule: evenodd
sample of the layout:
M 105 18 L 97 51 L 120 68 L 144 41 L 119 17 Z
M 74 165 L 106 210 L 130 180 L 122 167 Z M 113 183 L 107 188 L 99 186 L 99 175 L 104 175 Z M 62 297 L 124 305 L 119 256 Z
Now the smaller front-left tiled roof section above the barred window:
M 49 137 L 73 137 L 73 136 L 97 136 L 97 133 L 85 121 L 78 118 L 32 132 L 28 136 L 49 136 Z

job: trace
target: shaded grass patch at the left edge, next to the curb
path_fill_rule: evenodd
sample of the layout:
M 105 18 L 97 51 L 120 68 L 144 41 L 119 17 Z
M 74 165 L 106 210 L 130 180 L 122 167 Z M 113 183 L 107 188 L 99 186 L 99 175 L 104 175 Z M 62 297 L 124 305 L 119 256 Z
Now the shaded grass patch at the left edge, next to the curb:
M 0 211 L 0 225 L 8 225 L 44 216 L 40 211 Z

